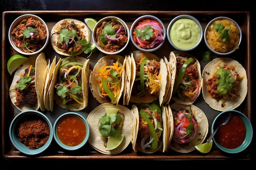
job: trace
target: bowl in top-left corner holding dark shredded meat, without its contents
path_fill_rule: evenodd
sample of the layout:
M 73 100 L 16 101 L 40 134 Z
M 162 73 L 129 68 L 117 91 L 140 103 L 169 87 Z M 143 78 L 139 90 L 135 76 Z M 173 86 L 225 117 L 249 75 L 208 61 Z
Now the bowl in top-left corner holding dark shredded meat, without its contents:
M 46 38 L 45 38 L 45 41 L 44 41 L 43 46 L 42 46 L 40 49 L 38 49 L 37 51 L 34 51 L 34 52 L 24 52 L 24 51 L 21 51 L 20 48 L 18 48 L 18 47 L 16 46 L 16 44 L 13 42 L 13 40 L 12 40 L 12 39 L 13 39 L 13 35 L 11 34 L 11 32 L 13 31 L 14 28 L 16 28 L 16 26 L 17 26 L 22 20 L 28 19 L 28 18 L 31 18 L 31 17 L 34 18 L 34 19 L 36 19 L 36 20 L 41 21 L 42 24 L 45 25 L 47 36 L 46 36 Z M 26 29 L 27 29 L 28 27 L 29 27 L 29 26 L 26 26 Z M 31 27 L 34 28 L 33 26 L 31 26 Z M 20 34 L 20 35 L 21 35 L 21 34 Z M 16 19 L 12 22 L 12 24 L 11 24 L 11 26 L 10 26 L 10 28 L 9 28 L 8 38 L 9 38 L 9 42 L 10 42 L 11 46 L 12 46 L 13 49 L 16 50 L 18 53 L 23 54 L 23 55 L 34 55 L 34 54 L 38 54 L 38 53 L 42 52 L 42 51 L 45 49 L 45 47 L 47 46 L 47 44 L 48 44 L 48 42 L 49 42 L 50 35 L 49 35 L 49 29 L 48 29 L 48 27 L 47 27 L 47 24 L 44 22 L 44 20 L 43 20 L 42 18 L 40 18 L 40 17 L 38 17 L 38 16 L 36 16 L 36 15 L 33 15 L 33 14 L 25 14 L 25 15 L 19 16 L 18 18 L 16 18 Z M 42 40 L 40 40 L 40 41 L 42 41 Z

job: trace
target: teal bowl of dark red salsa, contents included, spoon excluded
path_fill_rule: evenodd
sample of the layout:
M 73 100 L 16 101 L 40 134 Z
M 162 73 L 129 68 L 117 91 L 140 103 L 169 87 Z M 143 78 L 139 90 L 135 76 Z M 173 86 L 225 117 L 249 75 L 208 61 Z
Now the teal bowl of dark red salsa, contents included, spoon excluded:
M 242 152 L 250 145 L 253 129 L 250 120 L 245 114 L 237 110 L 226 110 L 213 120 L 211 133 L 225 121 L 229 113 L 231 114 L 229 121 L 218 128 L 213 141 L 223 152 L 234 154 Z

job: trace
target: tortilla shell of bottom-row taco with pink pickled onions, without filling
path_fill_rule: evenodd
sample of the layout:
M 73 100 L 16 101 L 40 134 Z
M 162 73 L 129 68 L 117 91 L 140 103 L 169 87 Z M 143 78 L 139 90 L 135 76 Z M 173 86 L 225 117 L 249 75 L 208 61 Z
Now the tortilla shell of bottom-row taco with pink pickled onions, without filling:
M 184 108 L 184 107 L 188 109 L 190 109 L 191 107 L 192 113 L 194 114 L 194 117 L 195 117 L 195 121 L 199 126 L 197 126 L 197 132 L 195 137 L 190 142 L 186 144 L 179 144 L 174 140 L 171 140 L 169 148 L 180 153 L 188 153 L 195 150 L 194 146 L 198 144 L 202 144 L 204 142 L 204 139 L 207 137 L 208 130 L 209 130 L 209 123 L 208 123 L 207 116 L 204 114 L 204 112 L 200 108 L 198 108 L 197 106 L 194 106 L 193 104 L 184 105 L 184 104 L 179 104 L 175 102 L 174 104 L 171 104 L 171 114 L 173 114 L 172 113 L 173 109 L 180 110 L 180 108 Z

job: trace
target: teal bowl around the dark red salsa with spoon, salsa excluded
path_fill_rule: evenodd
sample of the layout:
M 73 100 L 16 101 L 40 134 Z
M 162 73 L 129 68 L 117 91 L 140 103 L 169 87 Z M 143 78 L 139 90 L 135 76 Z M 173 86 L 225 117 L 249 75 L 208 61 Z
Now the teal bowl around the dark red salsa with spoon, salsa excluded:
M 239 153 L 242 152 L 243 150 L 245 150 L 252 142 L 252 136 L 253 136 L 253 129 L 252 129 L 252 124 L 249 121 L 249 119 L 246 117 L 246 115 L 244 115 L 243 113 L 237 111 L 237 110 L 225 110 L 223 112 L 221 112 L 214 120 L 213 123 L 211 125 L 211 133 L 213 133 L 213 131 L 215 130 L 215 124 L 216 122 L 220 119 L 220 117 L 222 117 L 223 115 L 227 115 L 228 113 L 231 113 L 232 115 L 238 115 L 244 122 L 245 124 L 245 128 L 246 128 L 246 135 L 245 135 L 245 139 L 243 141 L 243 143 L 238 146 L 237 148 L 234 149 L 229 149 L 229 148 L 225 148 L 223 146 L 221 146 L 217 140 L 215 139 L 215 137 L 213 137 L 213 142 L 216 144 L 216 146 L 222 150 L 223 152 L 229 153 L 229 154 L 235 154 L 235 153 Z M 230 120 L 229 120 L 230 121 Z

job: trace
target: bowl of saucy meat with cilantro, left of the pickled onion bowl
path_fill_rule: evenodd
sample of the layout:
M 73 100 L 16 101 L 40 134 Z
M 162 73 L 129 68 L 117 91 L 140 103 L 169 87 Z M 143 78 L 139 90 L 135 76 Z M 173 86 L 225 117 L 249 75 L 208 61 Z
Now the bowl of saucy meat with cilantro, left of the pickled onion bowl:
M 129 28 L 121 18 L 108 16 L 94 26 L 93 42 L 97 49 L 108 55 L 124 51 L 130 40 Z

